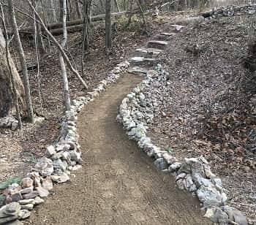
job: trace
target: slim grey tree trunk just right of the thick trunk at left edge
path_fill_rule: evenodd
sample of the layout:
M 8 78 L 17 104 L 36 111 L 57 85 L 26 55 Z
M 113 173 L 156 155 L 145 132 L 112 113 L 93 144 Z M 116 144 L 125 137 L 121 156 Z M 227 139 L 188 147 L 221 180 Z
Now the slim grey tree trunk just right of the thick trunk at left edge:
M 34 123 L 34 113 L 33 113 L 33 107 L 32 107 L 32 101 L 31 101 L 31 95 L 30 95 L 30 85 L 29 85 L 29 74 L 28 70 L 26 68 L 26 59 L 23 51 L 23 47 L 20 41 L 20 34 L 18 32 L 18 26 L 16 23 L 15 18 L 15 12 L 12 5 L 12 0 L 8 0 L 8 9 L 10 13 L 10 19 L 11 19 L 11 25 L 12 25 L 12 31 L 15 36 L 17 45 L 18 45 L 18 54 L 20 57 L 20 65 L 22 67 L 23 72 L 23 83 L 25 86 L 25 94 L 26 94 L 26 107 L 27 107 L 27 113 L 28 118 L 31 123 Z

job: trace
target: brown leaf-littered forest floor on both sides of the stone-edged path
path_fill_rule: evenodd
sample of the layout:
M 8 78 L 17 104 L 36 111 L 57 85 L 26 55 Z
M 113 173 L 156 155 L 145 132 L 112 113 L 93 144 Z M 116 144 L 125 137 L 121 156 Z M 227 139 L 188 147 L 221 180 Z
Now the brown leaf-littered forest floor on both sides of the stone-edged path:
M 139 26 L 118 31 L 113 52 L 108 56 L 104 51 L 103 31 L 95 33 L 86 55 L 89 87 L 97 85 L 113 66 L 144 45 L 148 36 L 169 31 L 170 23 L 173 18 L 165 15 L 148 22 L 148 35 Z M 172 37 L 160 60 L 170 72 L 172 85 L 163 94 L 165 101 L 161 113 L 154 118 L 150 136 L 179 159 L 206 156 L 213 172 L 230 191 L 230 204 L 246 213 L 251 224 L 256 224 L 256 84 L 255 74 L 245 69 L 243 63 L 248 25 L 246 17 L 205 20 Z M 79 41 L 80 32 L 69 36 L 70 53 L 77 65 L 81 56 Z M 32 47 L 26 47 L 26 57 L 35 61 Z M 45 121 L 33 126 L 25 124 L 23 134 L 0 131 L 3 150 L 0 160 L 4 159 L 4 163 L 0 161 L 0 181 L 10 175 L 26 174 L 58 134 L 64 111 L 58 54 L 50 54 L 40 64 L 42 110 L 37 72 L 30 75 L 35 110 Z M 72 97 L 83 95 L 78 80 L 72 74 L 69 77 Z

